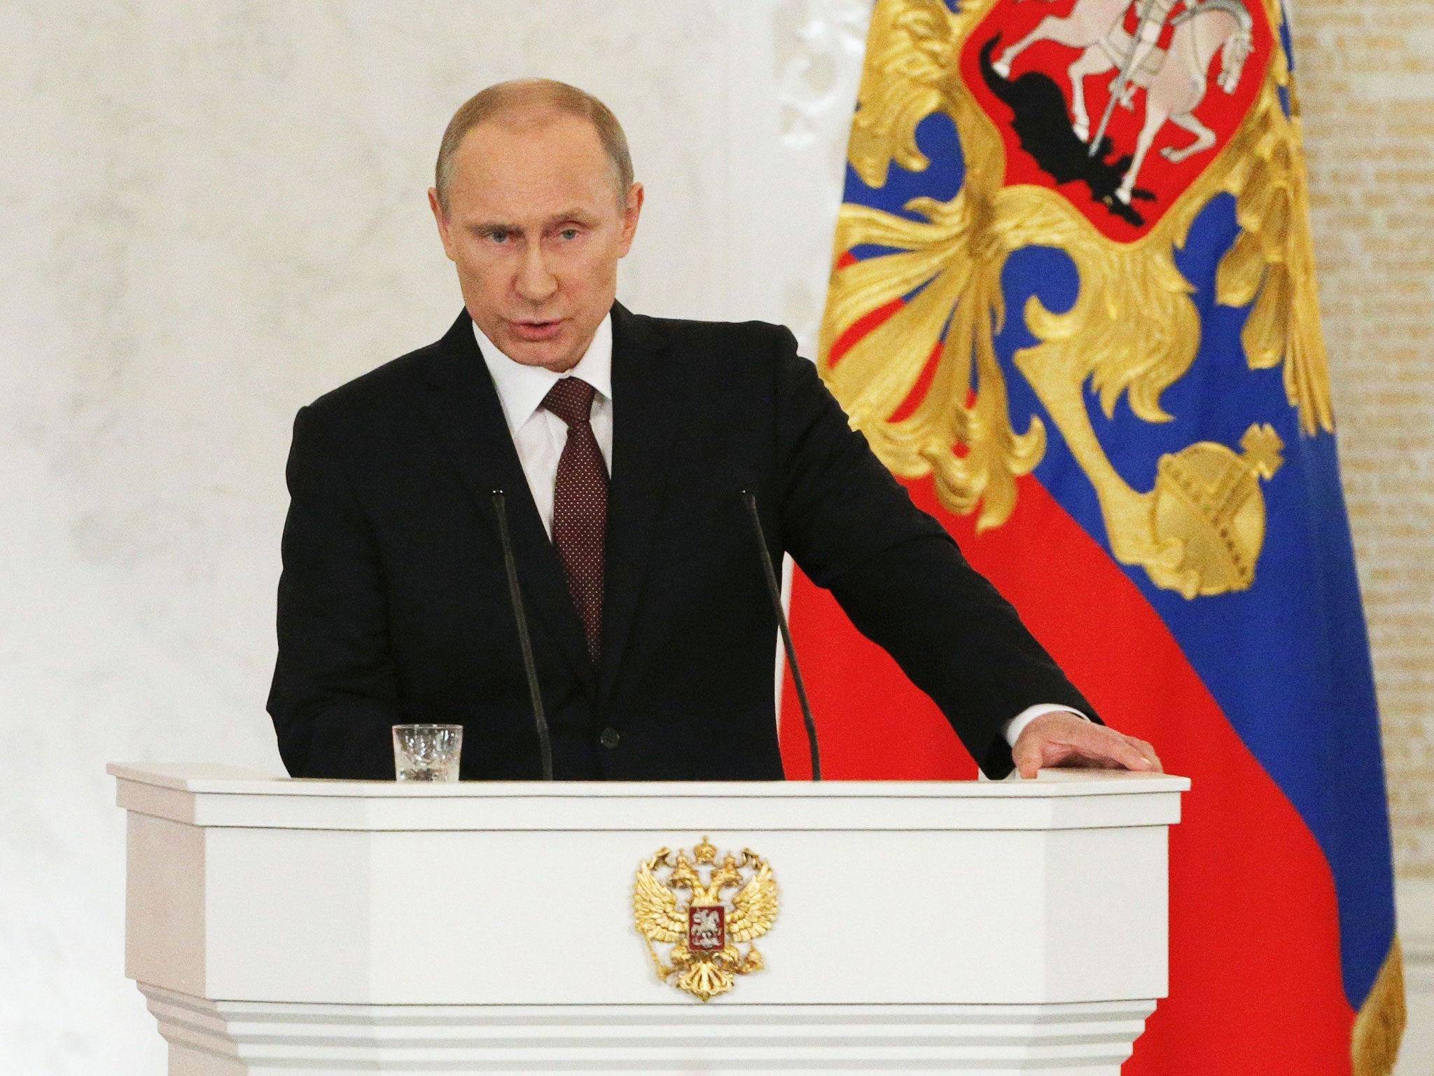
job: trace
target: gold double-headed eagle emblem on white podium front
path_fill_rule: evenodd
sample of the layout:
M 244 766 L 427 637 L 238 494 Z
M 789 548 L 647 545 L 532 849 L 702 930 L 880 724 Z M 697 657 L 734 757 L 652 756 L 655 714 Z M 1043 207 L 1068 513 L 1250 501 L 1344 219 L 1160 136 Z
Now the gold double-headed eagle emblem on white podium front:
M 638 868 L 632 912 L 657 977 L 707 1001 L 761 968 L 751 943 L 777 918 L 777 881 L 750 848 L 718 862 L 704 836 L 691 854 L 663 848 Z

